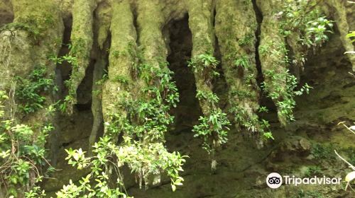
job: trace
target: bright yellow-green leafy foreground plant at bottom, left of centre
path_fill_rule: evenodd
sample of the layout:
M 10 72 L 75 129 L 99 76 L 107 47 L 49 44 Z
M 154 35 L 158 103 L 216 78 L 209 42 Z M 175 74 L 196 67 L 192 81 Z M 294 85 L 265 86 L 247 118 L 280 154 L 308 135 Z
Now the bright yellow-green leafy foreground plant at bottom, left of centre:
M 57 192 L 58 197 L 128 197 L 123 184 L 123 178 L 119 168 L 129 165 L 133 173 L 138 174 L 140 180 L 150 173 L 159 173 L 165 170 L 171 178 L 173 191 L 177 185 L 182 185 L 183 178 L 178 175 L 182 171 L 182 163 L 186 156 L 180 153 L 169 153 L 161 143 L 151 144 L 148 148 L 138 143 L 132 142 L 129 137 L 124 138 L 124 142 L 117 146 L 111 142 L 109 136 L 102 137 L 94 144 L 94 156 L 86 157 L 82 150 L 66 150 L 69 153 L 67 159 L 70 164 L 78 168 L 89 168 L 91 171 L 75 185 L 71 180 L 69 185 L 65 185 Z M 158 158 L 155 156 L 158 154 Z M 114 159 L 114 161 L 112 161 Z M 146 166 L 145 163 L 152 163 Z M 111 174 L 110 167 L 115 170 L 116 187 L 109 186 Z M 91 182 L 92 181 L 92 182 Z M 141 184 L 140 184 L 141 185 Z

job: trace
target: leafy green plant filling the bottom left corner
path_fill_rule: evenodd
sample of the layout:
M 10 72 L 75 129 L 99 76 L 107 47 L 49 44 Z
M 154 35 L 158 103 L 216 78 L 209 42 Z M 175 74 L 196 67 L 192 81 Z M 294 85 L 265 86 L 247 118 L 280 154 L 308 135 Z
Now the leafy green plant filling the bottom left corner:
M 43 180 L 43 166 L 48 165 L 45 139 L 54 127 L 45 124 L 30 127 L 9 119 L 4 113 L 4 103 L 9 100 L 0 91 L 0 185 L 8 196 L 43 197 L 37 185 Z

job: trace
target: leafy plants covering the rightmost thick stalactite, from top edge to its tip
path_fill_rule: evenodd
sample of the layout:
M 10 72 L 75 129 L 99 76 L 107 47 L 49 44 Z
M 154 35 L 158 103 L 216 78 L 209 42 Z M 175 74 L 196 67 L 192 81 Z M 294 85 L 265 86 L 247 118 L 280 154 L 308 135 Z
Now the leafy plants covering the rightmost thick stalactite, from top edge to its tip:
M 307 50 L 315 49 L 326 42 L 327 33 L 332 33 L 333 24 L 317 8 L 317 2 L 314 0 L 283 1 L 280 12 L 275 15 L 280 19 L 280 33 L 293 43 L 289 48 L 293 52 L 288 52 L 285 42 L 267 42 L 259 47 L 261 56 L 270 52 L 269 56 L 277 60 L 268 70 L 263 71 L 267 80 L 263 82 L 262 88 L 278 107 L 279 120 L 285 125 L 294 120 L 295 95 L 308 93 L 311 87 L 305 84 L 296 91 L 297 78 L 282 68 L 287 68 L 290 63 L 302 67 Z M 289 54 L 292 54 L 292 57 L 289 58 Z

